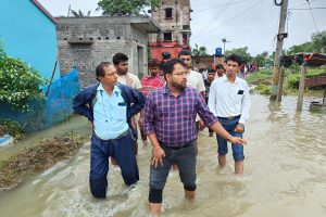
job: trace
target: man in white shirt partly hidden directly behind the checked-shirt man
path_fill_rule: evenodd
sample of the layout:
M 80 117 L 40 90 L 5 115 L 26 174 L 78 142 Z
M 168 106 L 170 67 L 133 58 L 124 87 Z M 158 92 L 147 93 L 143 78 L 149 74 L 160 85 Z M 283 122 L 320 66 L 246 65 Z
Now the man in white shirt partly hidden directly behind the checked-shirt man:
M 200 92 L 200 94 L 202 95 L 202 98 L 205 99 L 205 85 L 204 85 L 203 78 L 200 73 L 191 69 L 191 66 L 192 66 L 191 51 L 181 50 L 178 54 L 178 59 L 184 61 L 188 68 L 187 86 L 192 87 L 196 90 L 198 90 Z M 197 126 L 198 126 L 197 128 L 199 128 L 200 130 L 203 130 L 205 128 L 204 123 L 199 118 L 198 115 L 197 115 L 196 122 L 197 122 Z

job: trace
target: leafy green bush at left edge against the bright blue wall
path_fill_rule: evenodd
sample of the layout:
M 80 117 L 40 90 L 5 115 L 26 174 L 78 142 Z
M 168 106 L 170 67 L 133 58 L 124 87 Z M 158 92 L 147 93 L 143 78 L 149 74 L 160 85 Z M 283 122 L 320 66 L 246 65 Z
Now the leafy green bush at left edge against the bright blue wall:
M 0 44 L 0 101 L 8 102 L 13 108 L 28 111 L 28 101 L 42 97 L 39 88 L 45 84 L 35 68 L 7 56 Z

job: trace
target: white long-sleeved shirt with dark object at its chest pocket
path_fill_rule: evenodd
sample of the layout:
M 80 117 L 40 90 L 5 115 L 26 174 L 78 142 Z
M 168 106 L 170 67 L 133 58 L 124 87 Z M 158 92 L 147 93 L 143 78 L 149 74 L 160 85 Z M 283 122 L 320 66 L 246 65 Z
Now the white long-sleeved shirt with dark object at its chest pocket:
M 237 76 L 234 84 L 226 76 L 215 79 L 210 89 L 209 108 L 217 117 L 241 115 L 239 123 L 246 124 L 250 108 L 247 81 Z

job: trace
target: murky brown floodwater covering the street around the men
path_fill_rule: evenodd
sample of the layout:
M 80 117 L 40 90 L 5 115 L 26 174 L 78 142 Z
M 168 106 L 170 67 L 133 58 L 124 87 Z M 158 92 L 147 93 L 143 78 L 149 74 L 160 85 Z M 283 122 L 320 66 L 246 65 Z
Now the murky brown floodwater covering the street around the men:
M 217 167 L 216 140 L 200 133 L 198 190 L 193 203 L 184 200 L 177 171 L 170 174 L 162 216 L 325 217 L 326 114 L 296 113 L 297 98 L 281 105 L 251 95 L 244 137 L 244 176 L 234 175 L 231 154 Z M 84 123 L 84 122 L 83 122 Z M 1 151 L 1 150 L 0 150 Z M 140 182 L 123 184 L 120 169 L 110 167 L 106 200 L 95 200 L 88 188 L 89 143 L 70 162 L 39 174 L 21 187 L 0 193 L 3 217 L 147 216 L 151 146 L 139 145 Z

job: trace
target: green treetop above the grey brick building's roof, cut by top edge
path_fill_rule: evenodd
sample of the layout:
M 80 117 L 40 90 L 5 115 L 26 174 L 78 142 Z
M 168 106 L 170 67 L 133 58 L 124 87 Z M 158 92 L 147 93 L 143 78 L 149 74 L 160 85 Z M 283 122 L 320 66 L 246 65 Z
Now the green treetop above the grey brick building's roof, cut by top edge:
M 103 15 L 130 16 L 140 15 L 146 7 L 158 8 L 160 0 L 100 0 L 99 8 L 103 10 Z

